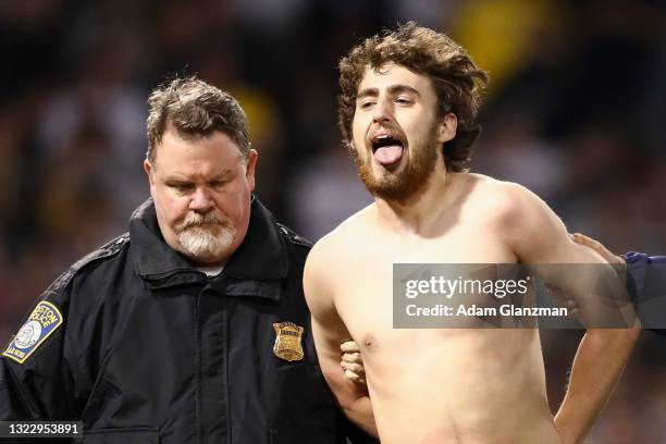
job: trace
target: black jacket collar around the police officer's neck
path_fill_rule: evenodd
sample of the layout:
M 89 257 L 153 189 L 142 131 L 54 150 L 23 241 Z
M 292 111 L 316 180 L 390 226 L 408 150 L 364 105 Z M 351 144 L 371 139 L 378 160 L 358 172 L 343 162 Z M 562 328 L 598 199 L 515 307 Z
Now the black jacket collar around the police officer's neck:
M 201 273 L 164 242 L 152 199 L 146 200 L 134 211 L 130 221 L 130 236 L 136 269 L 143 279 L 174 284 L 185 283 L 183 279 L 187 282 L 200 281 Z M 231 280 L 251 281 L 286 278 L 288 258 L 284 242 L 273 215 L 259 199 L 252 199 L 247 234 L 226 262 L 222 275 Z M 174 281 L 171 279 L 173 275 L 181 276 Z

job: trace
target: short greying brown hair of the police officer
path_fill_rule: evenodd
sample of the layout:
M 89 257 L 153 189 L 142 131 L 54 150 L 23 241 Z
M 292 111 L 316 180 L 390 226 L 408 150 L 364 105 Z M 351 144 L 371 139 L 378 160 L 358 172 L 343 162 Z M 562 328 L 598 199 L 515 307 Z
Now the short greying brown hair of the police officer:
M 146 157 L 152 164 L 168 123 L 181 136 L 209 136 L 219 131 L 238 146 L 245 158 L 250 151 L 247 116 L 238 101 L 196 76 L 175 78 L 156 88 L 148 106 Z

